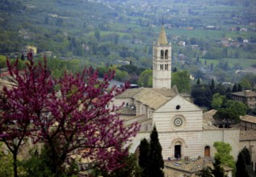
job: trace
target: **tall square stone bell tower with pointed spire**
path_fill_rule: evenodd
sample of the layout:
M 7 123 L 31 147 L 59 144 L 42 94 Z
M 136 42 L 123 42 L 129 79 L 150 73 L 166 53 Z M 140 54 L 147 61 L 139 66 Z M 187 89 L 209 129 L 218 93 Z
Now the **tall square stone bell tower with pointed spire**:
M 171 88 L 171 44 L 163 26 L 153 43 L 153 88 Z

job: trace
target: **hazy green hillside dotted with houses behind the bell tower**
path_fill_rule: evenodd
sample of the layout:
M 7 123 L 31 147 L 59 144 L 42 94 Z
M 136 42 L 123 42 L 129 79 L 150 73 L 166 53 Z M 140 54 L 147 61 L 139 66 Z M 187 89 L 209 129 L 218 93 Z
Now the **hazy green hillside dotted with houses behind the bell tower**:
M 256 64 L 255 6 L 253 0 L 3 0 L 0 54 L 20 56 L 31 45 L 93 66 L 131 61 L 151 68 L 152 43 L 164 23 L 175 67 L 195 75 L 228 62 L 232 73 Z

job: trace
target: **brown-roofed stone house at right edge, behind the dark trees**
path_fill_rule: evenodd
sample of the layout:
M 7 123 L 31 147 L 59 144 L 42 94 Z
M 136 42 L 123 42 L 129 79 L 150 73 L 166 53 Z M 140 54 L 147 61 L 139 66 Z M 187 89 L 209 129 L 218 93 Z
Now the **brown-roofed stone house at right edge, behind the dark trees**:
M 250 109 L 256 108 L 256 93 L 254 91 L 245 90 L 242 92 L 231 93 L 231 96 L 235 101 L 240 101 L 250 107 Z

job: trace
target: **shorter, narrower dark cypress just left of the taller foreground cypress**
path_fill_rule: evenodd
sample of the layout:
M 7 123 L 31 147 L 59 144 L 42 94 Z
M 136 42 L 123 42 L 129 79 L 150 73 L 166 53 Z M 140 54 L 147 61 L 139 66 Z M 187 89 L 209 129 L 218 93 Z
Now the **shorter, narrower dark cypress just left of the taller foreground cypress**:
M 144 138 L 140 144 L 139 165 L 142 168 L 142 177 L 149 175 L 149 142 Z

